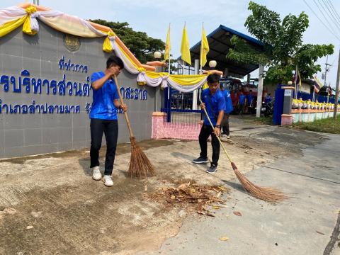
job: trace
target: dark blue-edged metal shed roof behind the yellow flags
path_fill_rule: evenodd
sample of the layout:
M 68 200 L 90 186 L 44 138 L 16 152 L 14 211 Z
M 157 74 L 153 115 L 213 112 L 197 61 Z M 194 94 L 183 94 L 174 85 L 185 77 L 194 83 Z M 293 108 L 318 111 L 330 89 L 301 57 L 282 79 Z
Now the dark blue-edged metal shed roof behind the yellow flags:
M 203 69 L 210 68 L 208 66 L 210 60 L 216 60 L 217 66 L 215 69 L 225 72 L 225 68 L 227 68 L 229 75 L 238 75 L 240 77 L 243 77 L 259 68 L 258 65 L 254 64 L 240 64 L 232 60 L 227 60 L 225 55 L 229 52 L 229 48 L 232 47 L 230 44 L 232 35 L 237 35 L 239 38 L 246 40 L 246 42 L 249 43 L 251 47 L 254 47 L 255 50 L 259 50 L 259 52 L 263 51 L 263 42 L 260 40 L 251 38 L 249 35 L 244 35 L 232 28 L 220 25 L 212 31 L 212 33 L 207 35 L 210 50 L 207 55 L 207 64 L 205 64 Z M 191 63 L 200 59 L 200 43 L 200 41 L 197 42 L 196 45 L 193 45 L 190 49 Z M 178 60 L 181 60 L 181 56 Z

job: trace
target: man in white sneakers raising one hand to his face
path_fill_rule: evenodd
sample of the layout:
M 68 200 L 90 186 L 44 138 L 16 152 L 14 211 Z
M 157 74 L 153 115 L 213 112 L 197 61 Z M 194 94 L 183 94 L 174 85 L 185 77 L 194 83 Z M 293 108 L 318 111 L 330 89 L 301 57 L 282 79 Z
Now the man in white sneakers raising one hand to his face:
M 95 72 L 91 75 L 93 89 L 93 103 L 91 106 L 91 165 L 92 178 L 96 181 L 102 179 L 99 169 L 99 149 L 103 133 L 106 137 L 106 159 L 103 182 L 106 186 L 113 186 L 112 171 L 115 161 L 115 149 L 118 139 L 117 113 L 121 109 L 127 111 L 124 104 L 120 104 L 117 88 L 113 76 L 118 76 L 124 68 L 123 61 L 119 57 L 111 56 L 106 61 L 104 72 Z

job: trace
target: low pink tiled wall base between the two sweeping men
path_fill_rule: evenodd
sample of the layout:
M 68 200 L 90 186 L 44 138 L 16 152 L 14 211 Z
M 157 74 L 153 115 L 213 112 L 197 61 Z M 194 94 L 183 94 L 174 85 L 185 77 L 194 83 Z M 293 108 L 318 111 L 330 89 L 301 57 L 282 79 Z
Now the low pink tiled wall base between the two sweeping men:
M 166 113 L 152 114 L 152 139 L 175 138 L 181 140 L 198 140 L 200 123 L 167 123 Z

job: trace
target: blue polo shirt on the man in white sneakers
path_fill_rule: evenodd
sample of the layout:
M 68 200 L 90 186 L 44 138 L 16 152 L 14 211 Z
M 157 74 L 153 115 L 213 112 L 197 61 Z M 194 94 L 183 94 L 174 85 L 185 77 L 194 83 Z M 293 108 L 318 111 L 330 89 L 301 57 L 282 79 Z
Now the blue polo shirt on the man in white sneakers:
M 104 72 L 95 72 L 91 75 L 91 84 L 104 77 Z M 108 79 L 101 89 L 93 91 L 93 102 L 91 106 L 90 118 L 101 120 L 117 120 L 118 109 L 113 104 L 113 99 L 119 99 L 115 81 Z

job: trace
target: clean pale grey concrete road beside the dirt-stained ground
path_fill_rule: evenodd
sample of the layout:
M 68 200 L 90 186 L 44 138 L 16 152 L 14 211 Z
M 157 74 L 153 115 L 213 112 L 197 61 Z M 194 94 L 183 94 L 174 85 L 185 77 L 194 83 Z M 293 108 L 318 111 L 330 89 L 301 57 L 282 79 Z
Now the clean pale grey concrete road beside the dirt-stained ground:
M 271 205 L 242 191 L 236 181 L 227 208 L 216 217 L 189 217 L 176 237 L 150 254 L 340 254 L 340 135 L 303 149 L 302 157 L 254 166 L 246 176 L 290 193 Z M 242 216 L 234 215 L 242 212 Z M 229 237 L 222 242 L 220 237 Z

